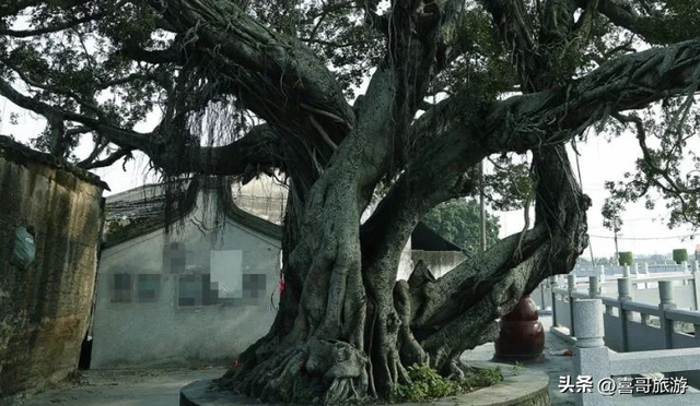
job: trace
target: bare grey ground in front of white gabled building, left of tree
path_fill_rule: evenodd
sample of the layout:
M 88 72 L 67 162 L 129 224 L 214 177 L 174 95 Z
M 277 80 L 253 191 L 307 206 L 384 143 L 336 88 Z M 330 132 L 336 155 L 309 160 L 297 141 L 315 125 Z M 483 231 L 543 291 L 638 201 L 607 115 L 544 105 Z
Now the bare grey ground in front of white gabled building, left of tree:
M 206 369 L 130 369 L 82 371 L 62 387 L 0 406 L 177 406 L 179 389 L 221 377 L 224 367 Z

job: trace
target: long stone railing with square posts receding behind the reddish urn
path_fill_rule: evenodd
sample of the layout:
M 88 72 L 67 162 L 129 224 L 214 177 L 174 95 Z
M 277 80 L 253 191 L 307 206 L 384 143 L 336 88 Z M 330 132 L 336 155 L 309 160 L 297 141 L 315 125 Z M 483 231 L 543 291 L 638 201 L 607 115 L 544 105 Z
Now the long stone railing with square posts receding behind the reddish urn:
M 532 297 L 541 301 L 541 307 L 550 306 L 552 311 L 551 332 L 559 337 L 576 343 L 586 333 L 576 319 L 576 303 L 597 299 L 602 306 L 596 311 L 603 324 L 602 335 L 606 349 L 617 353 L 687 350 L 698 351 L 692 365 L 680 363 L 673 369 L 657 369 L 655 358 L 650 360 L 652 370 L 641 369 L 629 373 L 668 372 L 669 377 L 682 377 L 685 382 L 700 387 L 700 313 L 698 309 L 698 289 L 700 273 L 665 275 L 661 277 L 632 278 L 629 274 L 614 280 L 602 283 L 597 276 L 591 276 L 583 283 L 575 275 L 567 275 L 565 286 L 559 287 L 561 277 L 550 278 L 540 285 Z M 607 290 L 604 292 L 604 289 Z M 688 310 L 679 309 L 685 308 Z M 614 356 L 612 358 L 617 357 Z M 684 353 L 685 354 L 685 353 Z M 696 353 L 688 353 L 686 356 Z M 604 401 L 609 402 L 609 397 Z M 596 404 L 596 403 L 593 403 Z M 605 403 L 607 404 L 607 403 Z M 677 404 L 677 403 L 670 403 Z M 678 403 L 680 404 L 680 403 Z M 685 404 L 685 403 L 684 403 Z M 689 403 L 700 405 L 698 403 Z

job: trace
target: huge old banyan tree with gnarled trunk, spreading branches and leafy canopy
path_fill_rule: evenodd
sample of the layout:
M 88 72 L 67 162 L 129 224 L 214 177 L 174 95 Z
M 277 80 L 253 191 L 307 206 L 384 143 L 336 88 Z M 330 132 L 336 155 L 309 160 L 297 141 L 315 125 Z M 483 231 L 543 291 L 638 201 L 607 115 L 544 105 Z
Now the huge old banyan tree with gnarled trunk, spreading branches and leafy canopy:
M 86 169 L 139 151 L 167 177 L 283 176 L 277 319 L 220 384 L 339 404 L 387 398 L 413 363 L 459 377 L 523 294 L 573 268 L 591 202 L 565 147 L 590 128 L 639 140 L 615 199 L 657 191 L 700 224 L 698 27 L 695 0 L 3 0 L 0 95 Z M 491 198 L 520 191 L 535 217 L 397 282 L 417 223 L 492 158 Z

